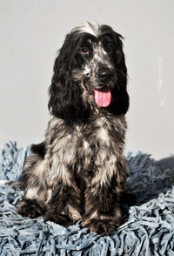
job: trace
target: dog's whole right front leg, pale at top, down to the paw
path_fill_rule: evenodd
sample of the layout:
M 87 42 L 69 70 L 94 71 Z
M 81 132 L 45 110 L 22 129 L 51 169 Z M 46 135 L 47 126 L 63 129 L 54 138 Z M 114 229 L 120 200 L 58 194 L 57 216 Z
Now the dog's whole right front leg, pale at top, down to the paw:
M 82 226 L 89 227 L 91 232 L 111 235 L 121 224 L 118 202 L 124 180 L 121 181 L 123 177 L 120 178 L 120 171 L 117 161 L 105 161 L 103 168 L 98 167 L 96 176 L 86 188 Z

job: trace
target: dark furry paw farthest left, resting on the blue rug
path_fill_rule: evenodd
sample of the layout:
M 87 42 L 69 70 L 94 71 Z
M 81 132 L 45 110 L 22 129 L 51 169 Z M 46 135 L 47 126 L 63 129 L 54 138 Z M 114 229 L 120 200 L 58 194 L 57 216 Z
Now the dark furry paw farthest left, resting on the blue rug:
M 37 202 L 36 199 L 23 199 L 17 205 L 17 213 L 31 219 L 43 215 L 45 211 L 46 207 L 43 202 Z

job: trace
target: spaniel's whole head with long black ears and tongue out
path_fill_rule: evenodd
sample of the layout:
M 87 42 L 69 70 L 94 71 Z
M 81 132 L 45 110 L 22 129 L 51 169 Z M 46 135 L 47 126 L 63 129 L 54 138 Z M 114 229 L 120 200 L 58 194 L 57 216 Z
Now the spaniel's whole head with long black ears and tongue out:
M 90 22 L 70 31 L 54 65 L 49 109 L 58 118 L 89 118 L 95 110 L 129 107 L 123 37 Z

